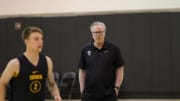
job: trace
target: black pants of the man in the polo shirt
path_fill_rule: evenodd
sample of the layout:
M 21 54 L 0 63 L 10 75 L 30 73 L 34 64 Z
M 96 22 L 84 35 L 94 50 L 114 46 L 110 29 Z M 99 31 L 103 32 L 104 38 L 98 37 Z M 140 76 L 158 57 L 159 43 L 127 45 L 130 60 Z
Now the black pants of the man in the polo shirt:
M 91 98 L 88 96 L 82 96 L 81 101 L 118 101 L 117 96 L 108 96 L 103 98 Z

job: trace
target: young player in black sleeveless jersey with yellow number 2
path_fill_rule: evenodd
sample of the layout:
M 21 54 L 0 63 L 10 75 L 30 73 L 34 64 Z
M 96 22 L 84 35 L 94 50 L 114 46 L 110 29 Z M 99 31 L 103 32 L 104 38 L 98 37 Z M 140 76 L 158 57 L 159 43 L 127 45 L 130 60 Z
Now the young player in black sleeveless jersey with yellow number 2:
M 55 101 L 61 101 L 53 76 L 50 57 L 41 54 L 43 32 L 37 27 L 27 27 L 22 32 L 26 50 L 9 61 L 0 78 L 0 101 L 5 101 L 6 85 L 11 84 L 9 101 L 45 101 L 45 85 Z

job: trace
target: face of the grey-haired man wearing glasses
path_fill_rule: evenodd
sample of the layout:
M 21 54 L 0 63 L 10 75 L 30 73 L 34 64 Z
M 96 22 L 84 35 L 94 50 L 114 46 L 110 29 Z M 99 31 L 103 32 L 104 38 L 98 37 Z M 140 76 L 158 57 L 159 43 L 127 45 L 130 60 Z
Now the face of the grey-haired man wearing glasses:
M 105 29 L 101 25 L 96 25 L 91 28 L 92 37 L 95 43 L 103 43 L 105 39 Z

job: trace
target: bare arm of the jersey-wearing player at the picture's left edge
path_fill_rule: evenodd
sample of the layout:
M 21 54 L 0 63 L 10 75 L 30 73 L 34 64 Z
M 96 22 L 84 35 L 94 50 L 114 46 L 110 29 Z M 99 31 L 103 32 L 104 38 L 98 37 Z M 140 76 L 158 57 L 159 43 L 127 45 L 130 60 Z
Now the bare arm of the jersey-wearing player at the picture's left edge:
M 5 101 L 6 86 L 14 75 L 17 75 L 19 69 L 19 61 L 13 59 L 9 61 L 0 78 L 0 101 Z

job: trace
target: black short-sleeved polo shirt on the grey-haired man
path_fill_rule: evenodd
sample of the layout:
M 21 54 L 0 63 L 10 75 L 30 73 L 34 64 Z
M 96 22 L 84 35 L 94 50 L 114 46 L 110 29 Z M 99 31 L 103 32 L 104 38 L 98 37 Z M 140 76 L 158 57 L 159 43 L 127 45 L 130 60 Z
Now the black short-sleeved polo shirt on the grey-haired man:
M 84 94 L 90 97 L 106 97 L 114 94 L 116 68 L 124 65 L 120 49 L 107 41 L 101 49 L 93 42 L 81 51 L 79 68 L 86 70 Z

